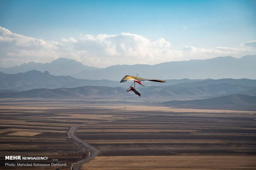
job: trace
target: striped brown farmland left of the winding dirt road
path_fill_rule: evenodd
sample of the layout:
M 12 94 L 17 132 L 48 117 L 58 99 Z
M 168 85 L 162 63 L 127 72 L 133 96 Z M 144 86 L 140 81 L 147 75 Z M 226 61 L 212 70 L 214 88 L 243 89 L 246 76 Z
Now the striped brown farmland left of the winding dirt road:
M 34 169 L 35 167 L 5 167 L 5 163 L 66 163 L 71 165 L 88 157 L 88 150 L 68 136 L 72 126 L 83 123 L 118 119 L 106 115 L 103 109 L 78 108 L 73 101 L 2 100 L 0 102 L 0 167 Z M 78 103 L 79 104 L 79 103 Z M 5 161 L 5 156 L 48 156 L 47 161 Z

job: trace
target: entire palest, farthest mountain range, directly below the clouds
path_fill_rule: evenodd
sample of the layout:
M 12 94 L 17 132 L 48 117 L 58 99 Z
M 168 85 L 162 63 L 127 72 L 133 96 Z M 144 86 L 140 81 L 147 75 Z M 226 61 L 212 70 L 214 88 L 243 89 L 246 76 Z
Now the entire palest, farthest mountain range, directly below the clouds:
M 0 68 L 7 74 L 26 72 L 33 69 L 49 71 L 58 76 L 73 76 L 90 80 L 121 80 L 124 76 L 136 76 L 150 79 L 220 79 L 220 78 L 250 78 L 256 79 L 256 55 L 247 55 L 241 58 L 215 57 L 206 60 L 190 60 L 165 62 L 155 65 L 115 65 L 106 68 L 88 67 L 75 60 L 59 58 L 51 63 L 21 64 L 20 66 Z

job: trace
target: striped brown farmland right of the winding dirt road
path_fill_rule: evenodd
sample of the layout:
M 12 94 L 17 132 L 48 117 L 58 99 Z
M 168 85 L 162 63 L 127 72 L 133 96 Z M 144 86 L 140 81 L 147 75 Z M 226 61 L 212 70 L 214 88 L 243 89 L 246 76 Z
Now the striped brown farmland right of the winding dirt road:
M 128 108 L 124 112 L 134 118 L 77 130 L 76 136 L 100 150 L 99 156 L 82 165 L 83 170 L 256 167 L 255 113 Z

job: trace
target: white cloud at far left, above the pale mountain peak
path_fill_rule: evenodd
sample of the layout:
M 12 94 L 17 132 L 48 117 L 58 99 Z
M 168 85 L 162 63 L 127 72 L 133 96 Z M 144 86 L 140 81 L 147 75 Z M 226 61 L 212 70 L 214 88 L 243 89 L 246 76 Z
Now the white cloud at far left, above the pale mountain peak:
M 24 62 L 49 62 L 63 55 L 63 45 L 57 41 L 44 41 L 15 34 L 0 27 L 1 67 L 20 65 Z

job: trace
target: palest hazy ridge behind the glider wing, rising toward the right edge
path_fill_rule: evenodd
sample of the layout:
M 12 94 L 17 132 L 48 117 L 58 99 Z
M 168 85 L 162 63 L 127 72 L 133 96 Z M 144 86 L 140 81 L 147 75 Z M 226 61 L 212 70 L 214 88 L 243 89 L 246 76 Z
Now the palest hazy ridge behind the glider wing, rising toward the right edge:
M 81 71 L 72 76 L 85 79 L 120 80 L 125 75 L 152 79 L 220 79 L 220 78 L 249 78 L 256 79 L 256 55 L 242 58 L 216 57 L 207 60 L 190 60 L 165 62 L 156 65 L 135 64 L 116 65 L 105 69 Z

